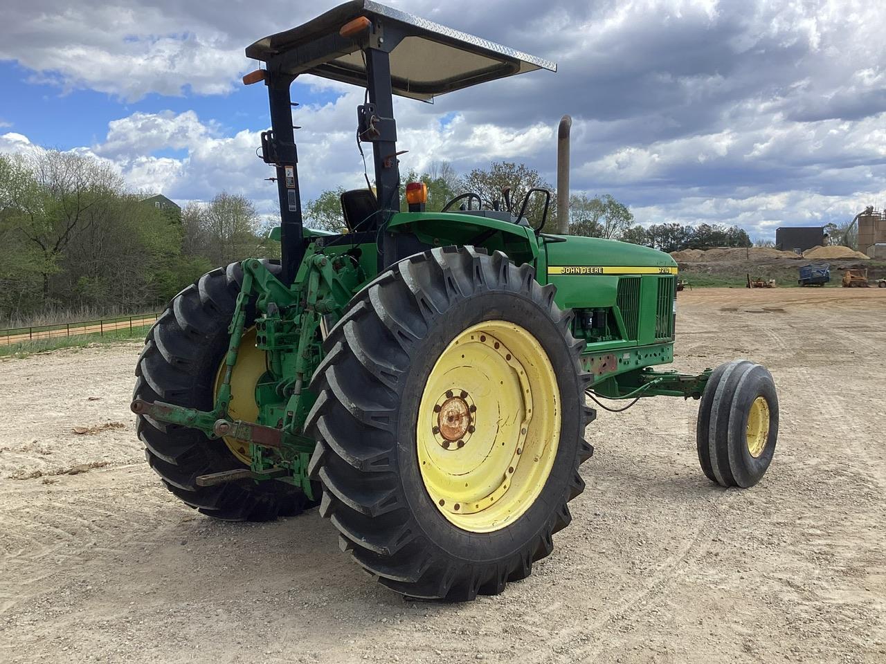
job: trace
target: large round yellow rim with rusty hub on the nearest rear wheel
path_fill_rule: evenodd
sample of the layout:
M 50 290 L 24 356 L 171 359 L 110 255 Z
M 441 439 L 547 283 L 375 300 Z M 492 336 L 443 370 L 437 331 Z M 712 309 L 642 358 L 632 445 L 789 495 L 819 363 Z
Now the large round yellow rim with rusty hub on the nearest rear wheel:
M 502 529 L 548 481 L 560 421 L 556 374 L 538 340 L 505 320 L 468 328 L 440 354 L 419 403 L 424 488 L 455 526 Z

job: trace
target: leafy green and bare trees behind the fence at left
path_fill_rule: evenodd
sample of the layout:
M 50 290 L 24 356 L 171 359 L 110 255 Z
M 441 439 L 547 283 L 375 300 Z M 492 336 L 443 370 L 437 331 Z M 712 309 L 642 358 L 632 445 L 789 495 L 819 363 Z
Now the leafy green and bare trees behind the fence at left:
M 181 212 L 145 197 L 88 155 L 0 155 L 0 327 L 159 307 L 213 267 L 266 249 L 245 197 L 221 193 Z

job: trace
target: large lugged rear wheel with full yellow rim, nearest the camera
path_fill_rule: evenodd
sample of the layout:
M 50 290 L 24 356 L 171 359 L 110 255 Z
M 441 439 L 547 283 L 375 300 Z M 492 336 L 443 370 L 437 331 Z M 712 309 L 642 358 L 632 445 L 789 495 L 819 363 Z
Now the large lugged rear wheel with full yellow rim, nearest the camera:
M 554 294 L 501 252 L 434 249 L 381 274 L 330 330 L 309 470 L 343 550 L 388 588 L 498 594 L 571 521 L 595 413 Z

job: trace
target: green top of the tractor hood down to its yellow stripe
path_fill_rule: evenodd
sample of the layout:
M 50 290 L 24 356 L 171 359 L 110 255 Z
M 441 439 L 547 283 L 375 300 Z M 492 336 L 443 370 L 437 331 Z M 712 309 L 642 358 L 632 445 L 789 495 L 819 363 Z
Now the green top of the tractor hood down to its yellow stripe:
M 558 274 L 555 269 L 557 266 L 619 267 L 626 268 L 623 270 L 624 273 L 644 272 L 644 270 L 635 271 L 633 267 L 673 268 L 671 272 L 677 267 L 677 262 L 664 251 L 650 249 L 640 244 L 580 235 L 560 236 L 565 242 L 545 243 L 549 274 Z

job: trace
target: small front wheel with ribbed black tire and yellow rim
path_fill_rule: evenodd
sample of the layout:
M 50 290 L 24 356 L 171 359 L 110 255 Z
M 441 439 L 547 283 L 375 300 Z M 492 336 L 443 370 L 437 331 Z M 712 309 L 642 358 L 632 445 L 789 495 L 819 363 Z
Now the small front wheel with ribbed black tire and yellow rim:
M 750 487 L 772 462 L 778 397 L 766 367 L 746 359 L 717 367 L 698 405 L 698 461 L 711 482 Z

